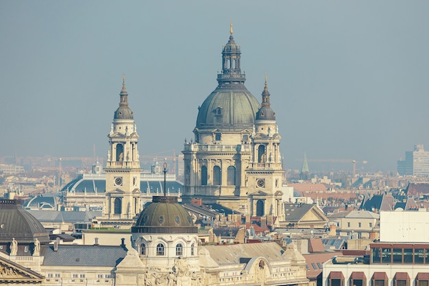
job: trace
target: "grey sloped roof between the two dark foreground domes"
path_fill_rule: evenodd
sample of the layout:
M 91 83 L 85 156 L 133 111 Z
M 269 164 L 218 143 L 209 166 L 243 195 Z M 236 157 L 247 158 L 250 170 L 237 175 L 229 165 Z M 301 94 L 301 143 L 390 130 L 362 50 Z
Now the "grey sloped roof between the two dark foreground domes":
M 59 245 L 43 249 L 43 265 L 55 266 L 116 266 L 127 254 L 121 246 L 76 246 Z

